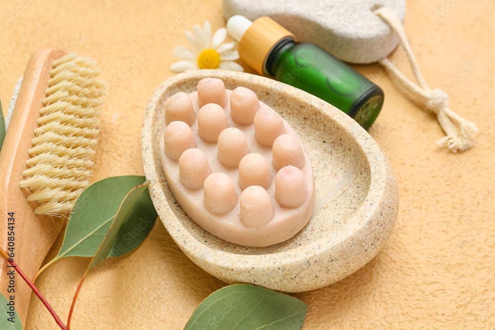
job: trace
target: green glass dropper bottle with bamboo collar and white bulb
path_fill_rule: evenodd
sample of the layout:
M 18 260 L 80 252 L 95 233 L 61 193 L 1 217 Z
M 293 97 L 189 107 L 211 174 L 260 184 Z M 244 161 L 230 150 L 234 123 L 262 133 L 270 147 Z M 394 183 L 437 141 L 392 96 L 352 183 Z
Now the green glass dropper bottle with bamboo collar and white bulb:
M 250 22 L 236 15 L 227 29 L 240 40 L 241 58 L 261 74 L 327 101 L 365 130 L 378 116 L 382 89 L 321 47 L 297 44 L 294 35 L 268 17 Z

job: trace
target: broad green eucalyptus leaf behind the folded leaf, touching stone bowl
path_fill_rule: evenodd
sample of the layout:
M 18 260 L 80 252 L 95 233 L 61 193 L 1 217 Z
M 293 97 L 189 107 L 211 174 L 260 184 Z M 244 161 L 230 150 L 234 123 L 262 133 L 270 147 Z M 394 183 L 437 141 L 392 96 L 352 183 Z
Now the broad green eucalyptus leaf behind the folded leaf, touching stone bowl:
M 142 185 L 144 176 L 120 176 L 100 180 L 84 189 L 74 205 L 58 254 L 38 273 L 65 257 L 93 257 L 107 235 L 126 194 Z M 147 189 L 133 200 L 122 231 L 107 254 L 118 257 L 138 247 L 153 228 L 157 214 Z M 127 200 L 126 203 L 130 201 Z M 120 226 L 119 226 L 120 228 Z

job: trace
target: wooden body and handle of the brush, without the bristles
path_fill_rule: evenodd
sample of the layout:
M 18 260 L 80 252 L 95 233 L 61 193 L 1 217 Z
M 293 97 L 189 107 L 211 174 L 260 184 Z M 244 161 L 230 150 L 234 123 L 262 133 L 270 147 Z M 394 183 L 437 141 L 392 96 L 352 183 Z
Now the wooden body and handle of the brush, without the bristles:
M 36 120 L 40 118 L 39 110 L 43 107 L 41 100 L 45 97 L 51 63 L 63 55 L 65 53 L 62 49 L 44 47 L 29 59 L 0 153 L 0 246 L 7 254 L 13 253 L 15 263 L 30 279 L 40 269 L 58 236 L 63 217 L 34 214 L 33 210 L 38 204 L 26 201 L 29 191 L 20 189 L 19 182 L 23 179 L 21 172 L 26 169 L 24 162 L 29 158 L 27 151 L 32 147 L 30 141 L 34 138 L 33 130 L 38 128 Z M 9 213 L 13 213 L 13 217 Z M 11 223 L 13 228 L 10 226 L 10 229 L 13 230 L 9 230 Z M 13 268 L 7 265 L 2 258 L 0 292 L 8 300 L 10 296 L 15 297 L 15 310 L 24 326 L 31 289 L 17 273 L 12 285 L 8 272 Z

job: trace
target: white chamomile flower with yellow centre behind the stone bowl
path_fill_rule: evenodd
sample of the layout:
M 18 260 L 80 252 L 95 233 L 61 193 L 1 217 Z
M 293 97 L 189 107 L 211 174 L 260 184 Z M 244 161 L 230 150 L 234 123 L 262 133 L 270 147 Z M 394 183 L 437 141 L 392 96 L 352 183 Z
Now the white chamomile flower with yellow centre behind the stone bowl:
M 236 43 L 222 44 L 227 36 L 227 29 L 218 29 L 211 38 L 210 23 L 206 21 L 202 29 L 199 25 L 195 25 L 193 33 L 186 31 L 186 39 L 193 50 L 182 46 L 175 47 L 173 54 L 182 61 L 172 64 L 170 70 L 175 72 L 197 69 L 244 71 L 241 65 L 232 62 L 239 58 L 238 51 L 234 49 Z

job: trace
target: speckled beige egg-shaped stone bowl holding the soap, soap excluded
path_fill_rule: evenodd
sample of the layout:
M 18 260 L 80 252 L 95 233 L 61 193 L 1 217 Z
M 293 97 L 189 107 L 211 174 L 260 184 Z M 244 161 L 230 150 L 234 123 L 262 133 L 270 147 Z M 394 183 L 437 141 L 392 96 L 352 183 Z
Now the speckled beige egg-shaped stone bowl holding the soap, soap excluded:
M 268 247 L 224 241 L 199 227 L 170 192 L 159 149 L 165 101 L 191 93 L 202 78 L 244 86 L 270 105 L 299 134 L 313 164 L 316 205 L 293 238 Z M 274 80 L 247 73 L 199 70 L 173 76 L 151 96 L 142 130 L 143 162 L 153 204 L 181 250 L 227 283 L 253 283 L 300 292 L 335 283 L 369 262 L 392 232 L 398 189 L 389 160 L 355 121 L 323 100 Z

